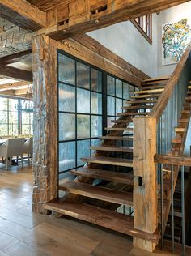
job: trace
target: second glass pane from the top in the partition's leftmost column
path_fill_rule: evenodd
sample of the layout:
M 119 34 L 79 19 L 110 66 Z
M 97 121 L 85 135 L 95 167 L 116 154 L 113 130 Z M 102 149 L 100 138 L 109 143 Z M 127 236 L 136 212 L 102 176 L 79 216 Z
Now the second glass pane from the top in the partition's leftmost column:
M 75 112 L 75 88 L 59 84 L 59 111 Z

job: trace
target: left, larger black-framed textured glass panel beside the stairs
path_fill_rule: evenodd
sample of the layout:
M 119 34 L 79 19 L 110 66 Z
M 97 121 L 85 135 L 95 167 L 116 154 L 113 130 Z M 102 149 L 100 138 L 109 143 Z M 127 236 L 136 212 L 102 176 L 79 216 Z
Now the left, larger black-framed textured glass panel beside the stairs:
M 102 130 L 102 72 L 58 53 L 59 173 L 83 166 Z

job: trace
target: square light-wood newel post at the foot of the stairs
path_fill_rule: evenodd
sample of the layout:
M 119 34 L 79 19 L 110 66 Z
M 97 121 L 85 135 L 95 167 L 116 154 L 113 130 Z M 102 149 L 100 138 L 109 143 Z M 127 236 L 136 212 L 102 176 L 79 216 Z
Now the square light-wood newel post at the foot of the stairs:
M 155 117 L 134 117 L 134 228 L 155 233 L 157 173 Z M 134 246 L 152 252 L 155 243 L 134 237 Z

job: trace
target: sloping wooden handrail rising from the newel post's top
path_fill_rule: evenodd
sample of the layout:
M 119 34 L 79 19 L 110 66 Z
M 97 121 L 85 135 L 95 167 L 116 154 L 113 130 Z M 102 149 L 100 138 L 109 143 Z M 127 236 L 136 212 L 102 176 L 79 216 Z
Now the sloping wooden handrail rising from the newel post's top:
M 149 114 L 149 116 L 155 117 L 157 121 L 159 120 L 159 117 L 161 117 L 164 109 L 168 105 L 168 101 L 172 96 L 174 87 L 176 87 L 176 84 L 180 79 L 180 75 L 182 73 L 182 70 L 185 67 L 185 63 L 187 59 L 189 58 L 190 52 L 191 52 L 191 44 L 187 47 L 187 49 L 185 50 L 185 53 L 183 53 L 182 57 L 180 58 L 180 62 L 178 62 L 176 69 L 174 70 L 170 79 L 168 80 L 168 83 L 166 84 L 163 90 L 163 93 L 161 94 L 161 96 L 159 96 L 157 103 L 155 104 L 154 108 Z

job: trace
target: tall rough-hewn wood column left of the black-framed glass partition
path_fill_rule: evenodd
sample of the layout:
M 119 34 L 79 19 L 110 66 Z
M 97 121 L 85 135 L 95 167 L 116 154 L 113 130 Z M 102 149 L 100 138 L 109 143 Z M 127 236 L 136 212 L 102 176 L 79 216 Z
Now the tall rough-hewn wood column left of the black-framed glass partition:
M 32 39 L 34 154 L 32 209 L 57 198 L 57 48 L 48 36 Z

